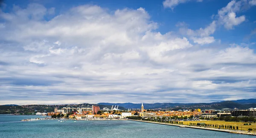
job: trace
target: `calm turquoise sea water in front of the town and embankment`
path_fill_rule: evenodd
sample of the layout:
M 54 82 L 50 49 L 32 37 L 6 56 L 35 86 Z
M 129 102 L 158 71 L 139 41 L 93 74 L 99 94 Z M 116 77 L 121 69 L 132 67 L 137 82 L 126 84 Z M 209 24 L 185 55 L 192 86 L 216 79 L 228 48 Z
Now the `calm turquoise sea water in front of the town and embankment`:
M 20 121 L 41 116 L 0 115 L 0 138 L 256 138 L 136 121 Z

